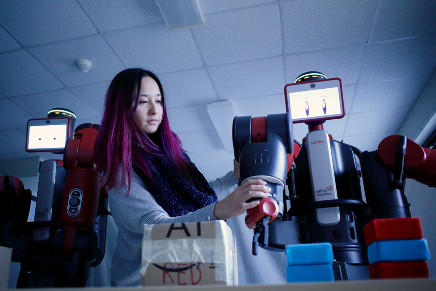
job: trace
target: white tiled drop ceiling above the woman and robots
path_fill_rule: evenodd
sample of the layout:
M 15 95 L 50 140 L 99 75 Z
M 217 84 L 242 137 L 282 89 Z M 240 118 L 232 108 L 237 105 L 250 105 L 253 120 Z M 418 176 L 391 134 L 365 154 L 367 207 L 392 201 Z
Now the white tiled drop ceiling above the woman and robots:
M 240 116 L 284 113 L 284 86 L 320 71 L 343 80 L 347 113 L 324 128 L 375 150 L 435 71 L 434 0 L 199 3 L 204 25 L 170 31 L 155 0 L 2 0 L 0 160 L 36 155 L 24 150 L 27 120 L 54 107 L 76 113 L 76 125 L 100 123 L 109 82 L 127 67 L 161 78 L 171 127 L 208 179 L 233 169 L 211 102 L 230 100 Z M 78 59 L 91 69 L 78 71 Z M 294 130 L 301 142 L 307 126 Z

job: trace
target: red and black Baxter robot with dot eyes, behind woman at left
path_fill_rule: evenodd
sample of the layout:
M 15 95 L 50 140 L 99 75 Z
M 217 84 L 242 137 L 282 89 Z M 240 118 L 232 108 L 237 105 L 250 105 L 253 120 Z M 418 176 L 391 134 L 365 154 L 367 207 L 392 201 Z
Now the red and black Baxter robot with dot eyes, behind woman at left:
M 28 121 L 28 152 L 63 154 L 40 163 L 36 199 L 18 178 L 0 177 L 0 245 L 21 263 L 17 288 L 84 287 L 104 257 L 107 192 L 93 162 L 99 126 L 82 124 L 72 136 L 75 117 L 55 108 Z

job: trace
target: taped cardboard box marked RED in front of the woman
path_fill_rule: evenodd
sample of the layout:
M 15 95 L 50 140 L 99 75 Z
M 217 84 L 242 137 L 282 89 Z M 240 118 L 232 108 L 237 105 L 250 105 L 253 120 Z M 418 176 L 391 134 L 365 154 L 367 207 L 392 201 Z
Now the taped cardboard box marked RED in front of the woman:
M 222 220 L 144 226 L 142 286 L 234 286 L 237 270 L 236 243 Z

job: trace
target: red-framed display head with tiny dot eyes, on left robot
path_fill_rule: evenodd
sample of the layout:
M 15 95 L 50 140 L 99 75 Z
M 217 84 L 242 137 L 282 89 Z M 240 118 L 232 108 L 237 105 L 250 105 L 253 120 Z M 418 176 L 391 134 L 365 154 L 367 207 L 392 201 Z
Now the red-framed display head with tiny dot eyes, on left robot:
M 27 126 L 26 150 L 62 152 L 69 137 L 69 118 L 31 119 Z

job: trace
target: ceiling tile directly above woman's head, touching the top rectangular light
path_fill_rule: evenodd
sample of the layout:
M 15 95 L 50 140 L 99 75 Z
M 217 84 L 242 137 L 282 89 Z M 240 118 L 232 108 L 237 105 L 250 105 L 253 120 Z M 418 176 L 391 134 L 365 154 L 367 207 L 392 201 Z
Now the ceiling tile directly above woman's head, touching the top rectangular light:
M 129 67 L 165 73 L 203 66 L 189 29 L 170 31 L 156 23 L 106 36 Z

